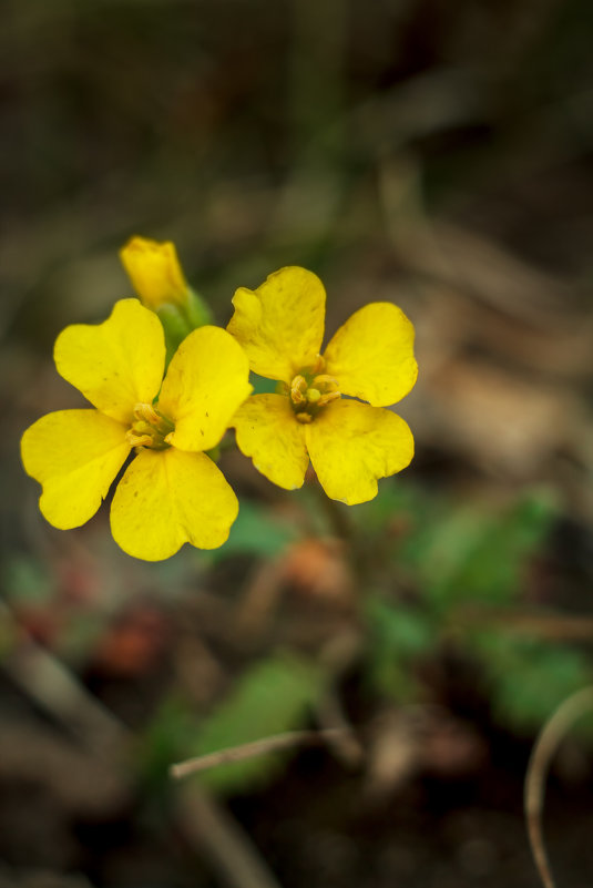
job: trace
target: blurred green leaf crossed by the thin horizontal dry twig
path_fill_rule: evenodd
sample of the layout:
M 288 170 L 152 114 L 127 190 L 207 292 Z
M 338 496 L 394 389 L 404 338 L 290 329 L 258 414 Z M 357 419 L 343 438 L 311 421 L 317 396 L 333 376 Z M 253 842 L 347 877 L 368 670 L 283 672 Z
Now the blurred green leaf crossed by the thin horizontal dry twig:
M 186 753 L 205 755 L 301 727 L 324 690 L 324 674 L 295 656 L 257 663 L 203 722 Z M 267 779 L 283 761 L 278 753 L 255 756 L 212 768 L 200 779 L 217 792 L 243 790 Z

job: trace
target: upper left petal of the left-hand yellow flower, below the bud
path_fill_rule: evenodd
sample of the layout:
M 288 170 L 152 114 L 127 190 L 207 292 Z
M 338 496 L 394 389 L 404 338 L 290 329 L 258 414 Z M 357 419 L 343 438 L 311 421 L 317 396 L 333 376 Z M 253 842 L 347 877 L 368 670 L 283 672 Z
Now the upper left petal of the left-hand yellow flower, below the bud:
M 62 330 L 53 357 L 58 372 L 102 414 L 131 422 L 134 406 L 150 404 L 161 387 L 163 327 L 137 299 L 121 299 L 103 324 Z

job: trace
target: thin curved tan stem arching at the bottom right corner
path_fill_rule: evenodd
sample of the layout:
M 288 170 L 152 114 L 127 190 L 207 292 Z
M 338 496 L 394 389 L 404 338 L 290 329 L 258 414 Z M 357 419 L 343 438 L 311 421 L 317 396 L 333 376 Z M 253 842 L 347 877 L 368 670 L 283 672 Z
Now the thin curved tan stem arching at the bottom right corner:
M 591 708 L 593 708 L 593 686 L 576 691 L 560 704 L 541 729 L 531 751 L 524 787 L 525 819 L 531 853 L 544 888 L 555 888 L 542 831 L 545 778 L 550 762 L 561 741 L 574 722 Z

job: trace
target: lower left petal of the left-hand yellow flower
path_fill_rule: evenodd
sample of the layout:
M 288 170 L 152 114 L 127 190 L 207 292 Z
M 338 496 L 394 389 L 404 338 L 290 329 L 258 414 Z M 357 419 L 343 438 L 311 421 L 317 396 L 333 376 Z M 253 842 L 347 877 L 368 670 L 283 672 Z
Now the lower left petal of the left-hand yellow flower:
M 43 486 L 39 508 L 60 530 L 96 512 L 130 453 L 125 426 L 99 410 L 58 410 L 21 440 L 24 470 Z

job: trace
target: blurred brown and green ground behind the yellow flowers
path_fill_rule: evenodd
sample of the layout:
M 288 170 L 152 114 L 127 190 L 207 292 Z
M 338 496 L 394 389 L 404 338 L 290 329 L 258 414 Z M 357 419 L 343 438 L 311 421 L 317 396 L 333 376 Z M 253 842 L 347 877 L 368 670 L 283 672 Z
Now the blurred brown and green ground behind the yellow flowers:
M 592 683 L 593 7 L 8 0 L 0 34 L 0 886 L 533 886 L 522 780 Z M 18 441 L 81 399 L 67 324 L 175 241 L 231 316 L 283 265 L 331 334 L 399 304 L 412 466 L 348 510 L 228 449 L 228 543 L 161 564 L 60 532 Z M 289 753 L 172 763 L 288 729 Z M 593 878 L 592 725 L 554 762 Z

